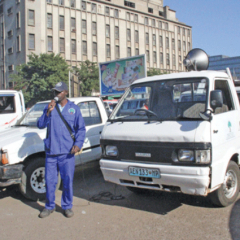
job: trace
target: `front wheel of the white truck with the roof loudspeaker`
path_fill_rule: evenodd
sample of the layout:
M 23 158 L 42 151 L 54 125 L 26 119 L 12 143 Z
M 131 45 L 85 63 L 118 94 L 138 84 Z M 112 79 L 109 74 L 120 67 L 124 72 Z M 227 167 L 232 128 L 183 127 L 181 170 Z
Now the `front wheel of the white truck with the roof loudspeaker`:
M 213 204 L 219 207 L 226 207 L 235 202 L 239 193 L 239 182 L 239 167 L 235 162 L 230 161 L 223 184 L 210 194 Z

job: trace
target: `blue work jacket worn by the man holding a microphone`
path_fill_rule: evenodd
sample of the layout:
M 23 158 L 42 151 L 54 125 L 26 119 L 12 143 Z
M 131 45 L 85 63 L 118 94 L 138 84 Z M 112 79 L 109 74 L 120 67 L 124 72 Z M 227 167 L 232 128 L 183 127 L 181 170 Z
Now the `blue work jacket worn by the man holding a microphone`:
M 47 127 L 47 138 L 44 139 L 46 154 L 68 154 L 74 145 L 81 149 L 84 143 L 86 128 L 79 107 L 68 100 L 61 112 L 75 136 L 75 142 L 56 108 L 53 109 L 49 116 L 47 116 L 47 110 L 48 104 L 37 122 L 38 128 L 43 129 Z

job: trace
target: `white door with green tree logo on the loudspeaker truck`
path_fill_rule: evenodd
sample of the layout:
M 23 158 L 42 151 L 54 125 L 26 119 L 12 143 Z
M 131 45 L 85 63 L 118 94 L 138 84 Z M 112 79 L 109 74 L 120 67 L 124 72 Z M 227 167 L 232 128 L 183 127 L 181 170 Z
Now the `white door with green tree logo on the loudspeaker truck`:
M 215 89 L 222 90 L 223 107 L 215 110 L 211 121 L 211 188 L 223 183 L 228 162 L 239 145 L 239 111 L 234 107 L 228 81 L 215 80 Z

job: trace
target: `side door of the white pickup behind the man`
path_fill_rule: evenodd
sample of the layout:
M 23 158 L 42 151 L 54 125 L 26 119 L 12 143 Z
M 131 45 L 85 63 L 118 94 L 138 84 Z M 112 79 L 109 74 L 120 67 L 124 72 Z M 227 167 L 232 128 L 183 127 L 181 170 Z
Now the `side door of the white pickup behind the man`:
M 81 102 L 78 103 L 78 106 L 85 122 L 86 137 L 82 154 L 76 156 L 76 165 L 100 159 L 102 154 L 100 135 L 105 124 L 96 101 Z

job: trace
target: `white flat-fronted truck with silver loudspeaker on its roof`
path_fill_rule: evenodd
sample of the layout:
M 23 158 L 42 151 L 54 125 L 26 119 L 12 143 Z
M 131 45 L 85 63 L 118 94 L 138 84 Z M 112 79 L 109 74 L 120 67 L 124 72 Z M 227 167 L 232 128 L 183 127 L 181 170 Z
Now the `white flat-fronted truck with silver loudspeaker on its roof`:
M 230 71 L 206 70 L 200 49 L 184 63 L 196 71 L 139 79 L 126 90 L 103 129 L 100 167 L 106 181 L 133 192 L 210 194 L 227 206 L 240 186 L 237 92 Z M 131 99 L 146 98 L 148 109 L 123 111 Z

